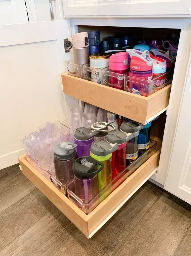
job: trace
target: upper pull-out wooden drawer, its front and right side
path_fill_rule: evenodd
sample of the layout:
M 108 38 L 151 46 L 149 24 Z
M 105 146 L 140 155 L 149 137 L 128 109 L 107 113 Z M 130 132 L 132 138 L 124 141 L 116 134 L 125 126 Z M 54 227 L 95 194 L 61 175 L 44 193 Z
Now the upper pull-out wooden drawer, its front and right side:
M 64 93 L 145 124 L 168 106 L 171 84 L 148 97 L 62 74 Z

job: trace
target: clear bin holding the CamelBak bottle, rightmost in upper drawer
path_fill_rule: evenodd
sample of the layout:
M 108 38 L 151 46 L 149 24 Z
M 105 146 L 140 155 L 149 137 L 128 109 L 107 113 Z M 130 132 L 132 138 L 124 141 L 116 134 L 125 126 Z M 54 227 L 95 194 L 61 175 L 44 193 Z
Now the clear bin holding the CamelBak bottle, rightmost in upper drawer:
M 124 77 L 124 91 L 149 96 L 172 82 L 174 70 L 171 69 L 151 80 L 143 80 L 129 75 Z

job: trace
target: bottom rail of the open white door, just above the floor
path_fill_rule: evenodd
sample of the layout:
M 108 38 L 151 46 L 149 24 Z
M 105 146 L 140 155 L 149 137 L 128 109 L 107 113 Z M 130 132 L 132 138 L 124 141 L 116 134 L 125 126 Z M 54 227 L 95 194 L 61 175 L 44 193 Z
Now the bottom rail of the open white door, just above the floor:
M 22 156 L 23 154 L 25 154 L 24 149 L 20 149 L 9 154 L 0 156 L 0 170 L 8 166 L 17 164 L 19 162 L 18 157 Z

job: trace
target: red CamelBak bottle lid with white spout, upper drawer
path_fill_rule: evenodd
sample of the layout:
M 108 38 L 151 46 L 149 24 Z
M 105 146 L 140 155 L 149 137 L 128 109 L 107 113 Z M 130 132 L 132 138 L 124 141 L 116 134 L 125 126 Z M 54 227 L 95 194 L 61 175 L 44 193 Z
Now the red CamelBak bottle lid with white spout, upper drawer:
M 135 49 L 134 49 L 135 50 Z M 153 68 L 153 60 L 149 55 L 149 51 L 144 51 L 141 55 L 136 53 L 136 50 L 133 51 L 132 49 L 126 50 L 129 53 L 131 62 L 130 62 L 130 69 L 135 71 L 149 71 Z

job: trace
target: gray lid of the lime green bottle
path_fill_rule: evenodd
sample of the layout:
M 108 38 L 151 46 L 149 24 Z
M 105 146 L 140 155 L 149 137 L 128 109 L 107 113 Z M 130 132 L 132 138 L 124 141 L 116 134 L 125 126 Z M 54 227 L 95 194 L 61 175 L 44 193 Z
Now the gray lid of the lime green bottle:
M 111 154 L 113 151 L 117 150 L 118 147 L 119 145 L 117 143 L 109 144 L 103 140 L 95 140 L 91 144 L 90 151 L 96 156 L 107 156 L 108 154 Z

